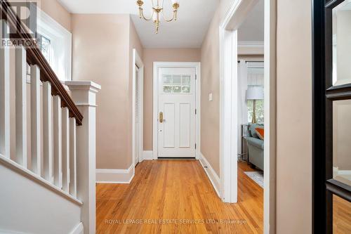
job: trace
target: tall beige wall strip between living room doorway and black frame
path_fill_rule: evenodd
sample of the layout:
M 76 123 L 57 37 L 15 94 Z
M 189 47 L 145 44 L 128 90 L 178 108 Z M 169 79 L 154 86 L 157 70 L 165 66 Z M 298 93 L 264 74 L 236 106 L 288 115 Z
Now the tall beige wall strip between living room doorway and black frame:
M 311 1 L 277 1 L 277 233 L 312 232 Z

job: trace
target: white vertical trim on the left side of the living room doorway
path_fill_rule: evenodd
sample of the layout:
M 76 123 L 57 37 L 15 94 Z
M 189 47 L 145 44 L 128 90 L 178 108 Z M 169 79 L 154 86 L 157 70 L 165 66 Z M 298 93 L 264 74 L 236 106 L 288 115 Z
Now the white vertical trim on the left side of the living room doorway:
M 220 193 L 223 202 L 237 202 L 237 30 L 222 30 L 220 41 Z

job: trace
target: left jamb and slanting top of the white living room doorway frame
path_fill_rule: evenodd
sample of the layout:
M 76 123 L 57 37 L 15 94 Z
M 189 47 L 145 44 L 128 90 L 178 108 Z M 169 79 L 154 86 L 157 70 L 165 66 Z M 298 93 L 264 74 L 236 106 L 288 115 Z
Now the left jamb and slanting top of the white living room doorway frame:
M 235 0 L 220 25 L 220 196 L 237 202 L 238 40 L 237 29 L 258 0 Z

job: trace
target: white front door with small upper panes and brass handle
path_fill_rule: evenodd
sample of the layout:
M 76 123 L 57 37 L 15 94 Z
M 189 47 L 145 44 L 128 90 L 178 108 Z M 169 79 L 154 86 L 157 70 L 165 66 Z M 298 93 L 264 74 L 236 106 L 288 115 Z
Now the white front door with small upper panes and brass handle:
M 158 157 L 195 157 L 195 68 L 159 68 Z

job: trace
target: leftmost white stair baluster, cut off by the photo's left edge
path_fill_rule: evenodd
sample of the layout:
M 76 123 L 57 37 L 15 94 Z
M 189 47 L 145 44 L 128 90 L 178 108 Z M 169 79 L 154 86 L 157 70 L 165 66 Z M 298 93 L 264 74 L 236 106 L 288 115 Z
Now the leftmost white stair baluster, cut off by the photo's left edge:
M 5 20 L 0 20 L 2 32 L 8 32 Z M 0 46 L 0 154 L 10 158 L 10 56 L 7 46 Z

